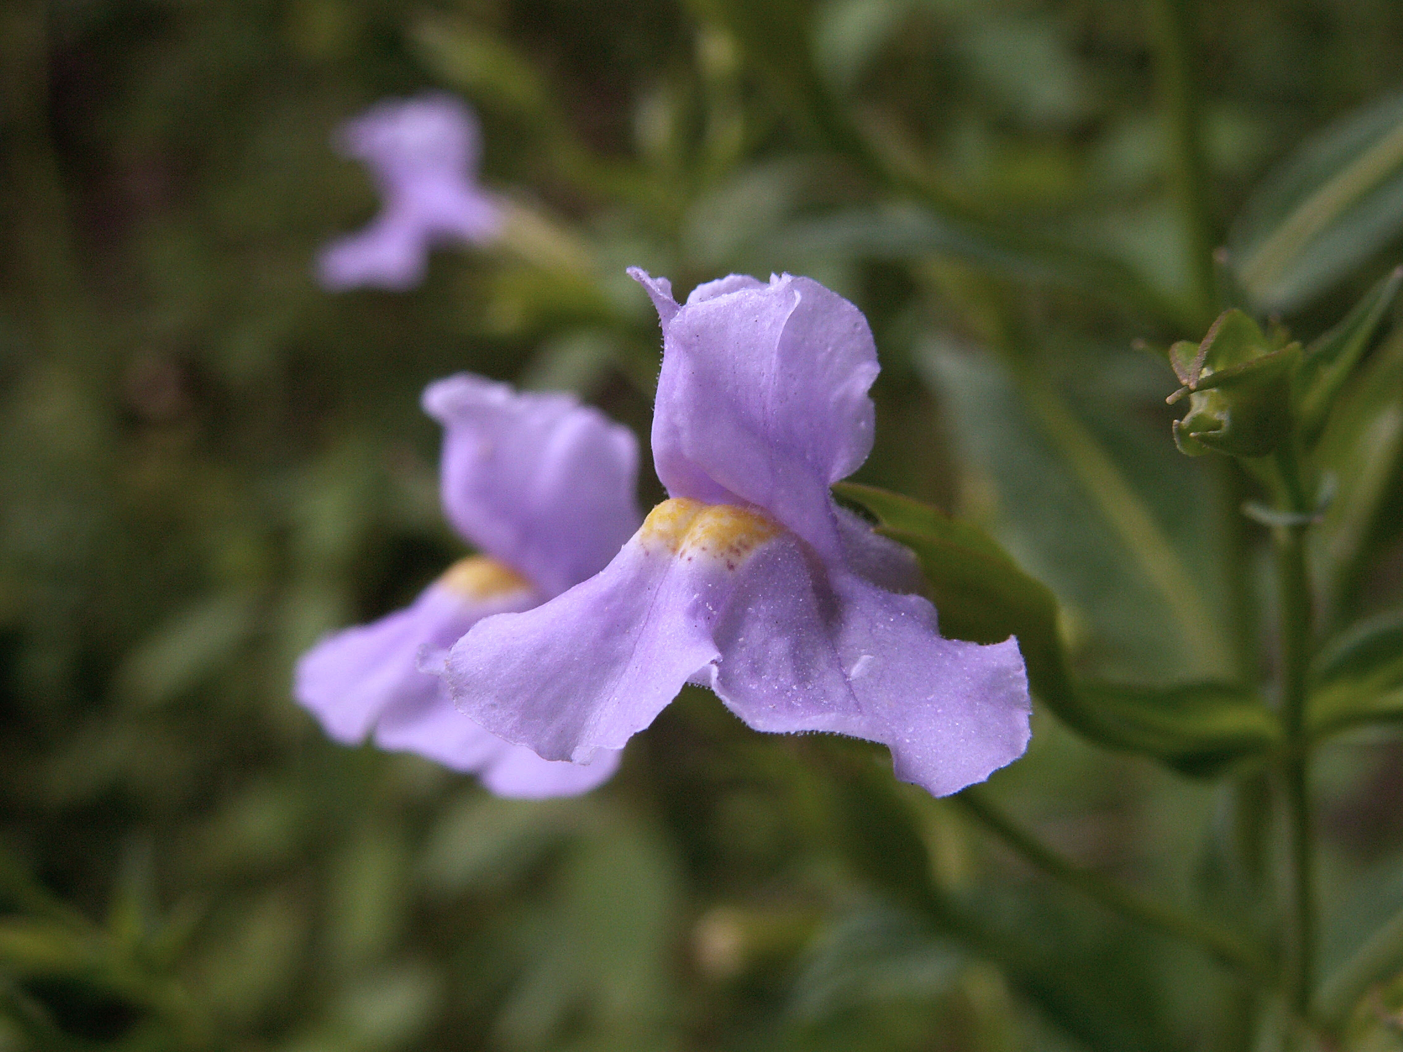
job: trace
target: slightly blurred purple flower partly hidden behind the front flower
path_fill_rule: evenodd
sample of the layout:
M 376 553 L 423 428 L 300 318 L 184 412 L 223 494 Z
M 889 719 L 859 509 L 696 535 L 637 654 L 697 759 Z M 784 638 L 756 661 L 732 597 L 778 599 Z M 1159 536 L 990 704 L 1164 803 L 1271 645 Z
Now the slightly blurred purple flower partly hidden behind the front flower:
M 376 745 L 474 773 L 502 797 L 592 790 L 617 750 L 543 760 L 463 715 L 421 669 L 483 617 L 528 610 L 609 562 L 641 518 L 633 432 L 567 394 L 518 394 L 466 373 L 429 384 L 424 410 L 445 428 L 443 509 L 484 554 L 404 610 L 324 638 L 297 662 L 293 693 L 338 742 L 373 731 Z

